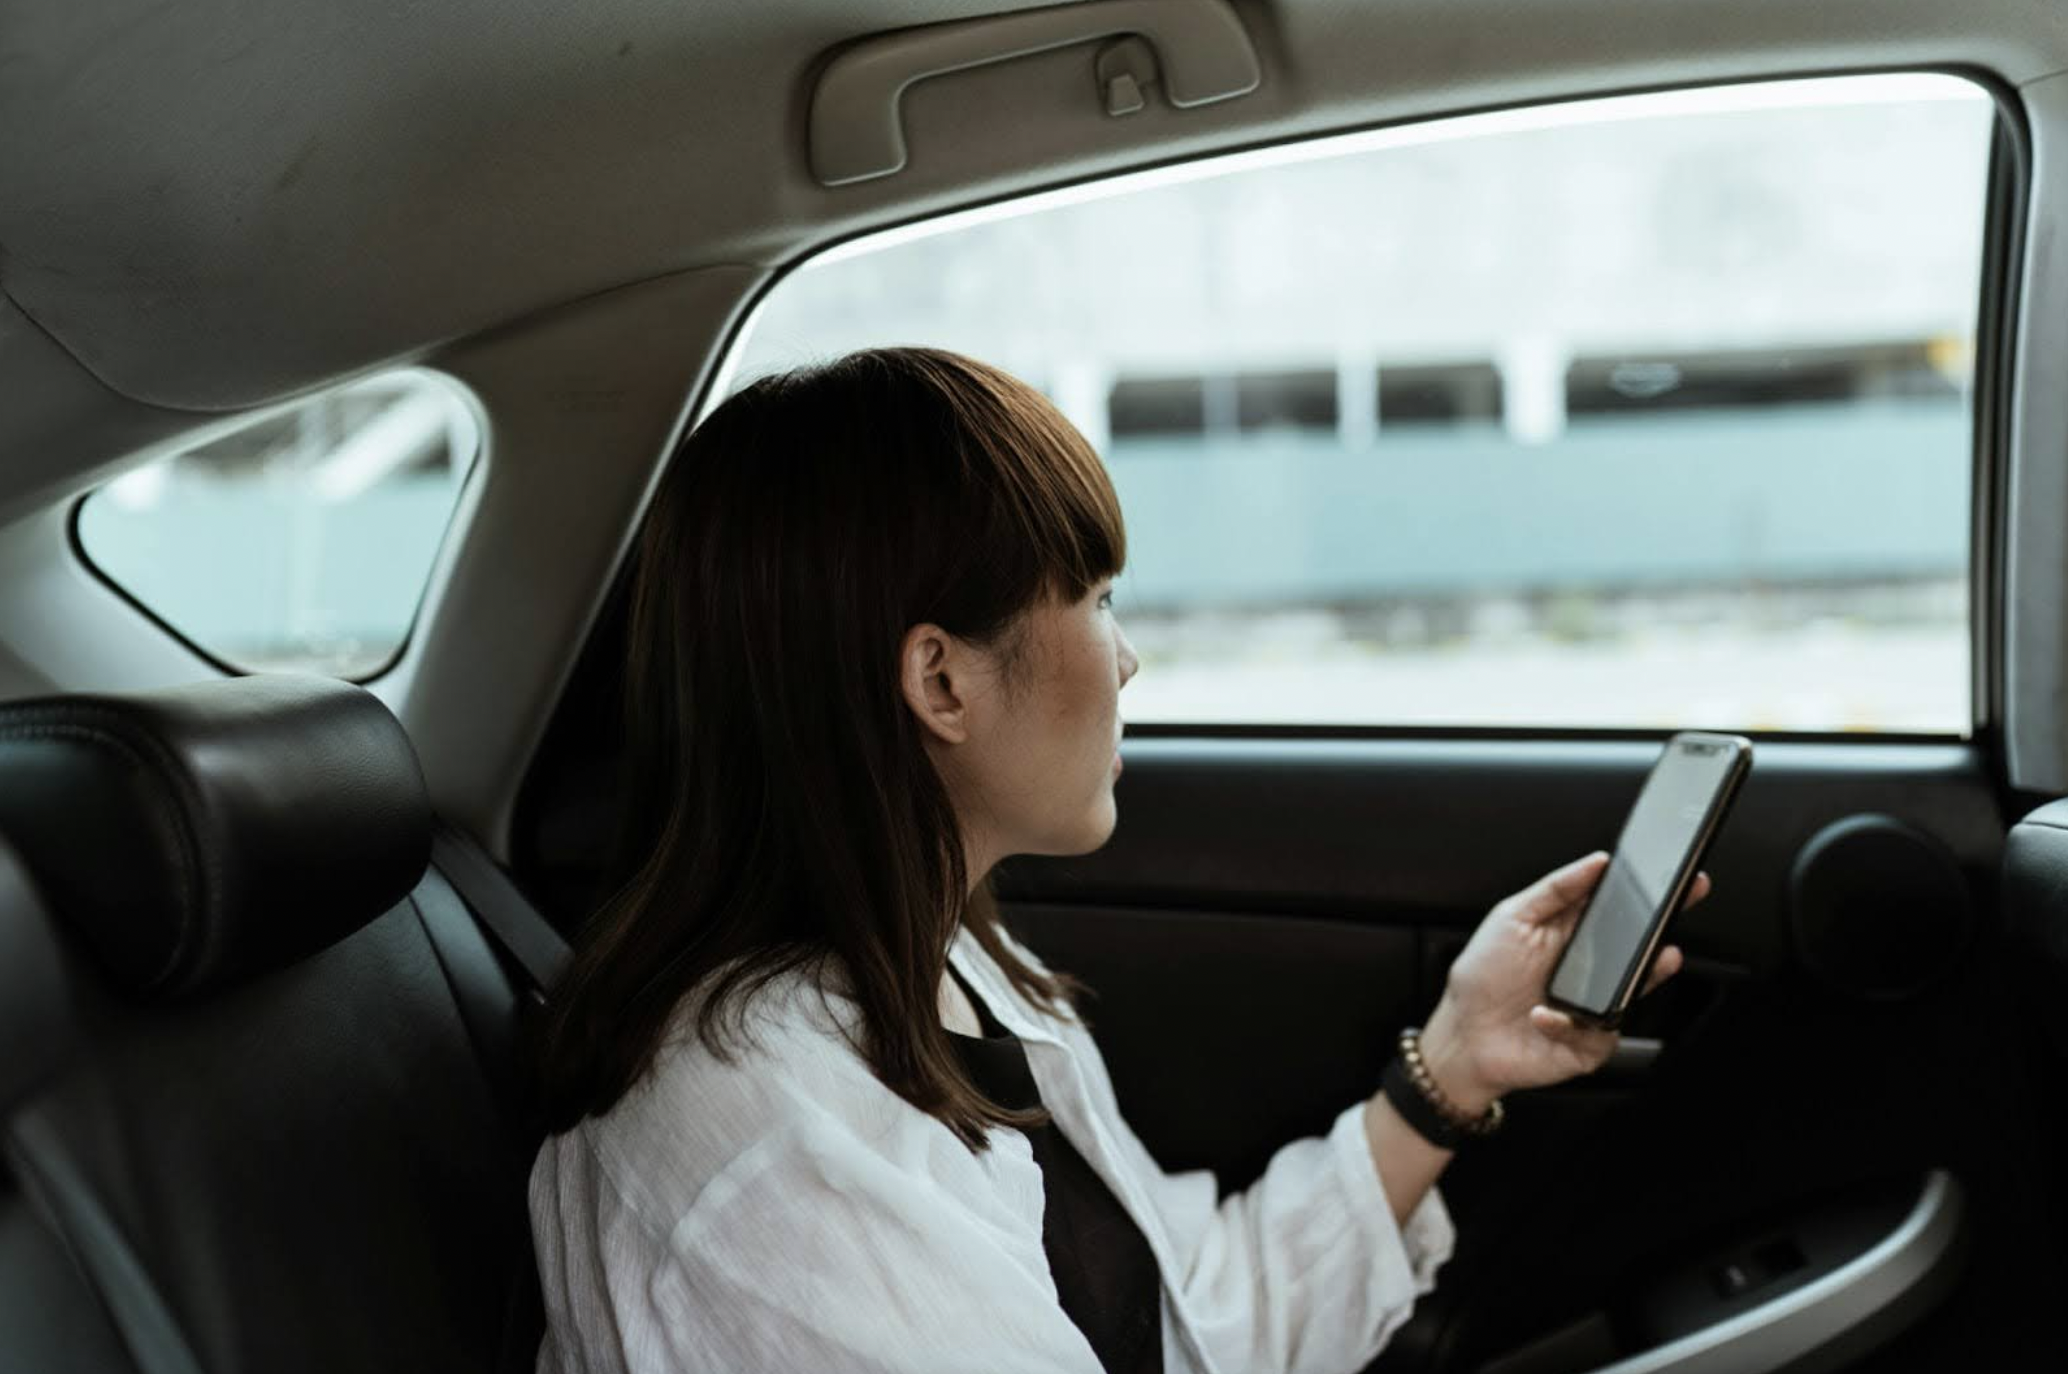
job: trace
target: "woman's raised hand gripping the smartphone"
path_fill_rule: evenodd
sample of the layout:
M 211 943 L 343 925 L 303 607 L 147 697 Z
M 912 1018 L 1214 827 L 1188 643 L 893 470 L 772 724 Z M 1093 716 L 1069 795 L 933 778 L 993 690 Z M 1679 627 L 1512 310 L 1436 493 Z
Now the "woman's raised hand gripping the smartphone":
M 1431 1076 L 1460 1109 L 1479 1115 L 1503 1093 L 1590 1074 L 1615 1049 L 1613 1030 L 1580 1026 L 1543 1004 L 1551 968 L 1607 867 L 1609 857 L 1594 853 L 1501 900 L 1450 966 L 1421 1043 Z M 1698 873 L 1685 904 L 1708 896 L 1708 873 Z M 1665 946 L 1644 991 L 1679 966 L 1679 948 Z

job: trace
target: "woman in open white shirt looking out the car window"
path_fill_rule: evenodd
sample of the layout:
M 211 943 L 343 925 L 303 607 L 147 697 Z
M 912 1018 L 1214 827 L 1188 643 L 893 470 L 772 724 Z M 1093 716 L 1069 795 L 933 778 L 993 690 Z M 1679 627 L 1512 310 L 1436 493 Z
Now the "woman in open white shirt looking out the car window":
M 1450 1254 L 1446 1146 L 1607 1057 L 1537 1006 L 1594 855 L 1485 919 L 1419 1080 L 1222 1202 L 1158 1169 L 986 884 L 1113 832 L 1125 552 L 1086 441 L 953 354 L 685 441 L 633 584 L 643 824 L 542 1035 L 540 1370 L 1359 1370 Z

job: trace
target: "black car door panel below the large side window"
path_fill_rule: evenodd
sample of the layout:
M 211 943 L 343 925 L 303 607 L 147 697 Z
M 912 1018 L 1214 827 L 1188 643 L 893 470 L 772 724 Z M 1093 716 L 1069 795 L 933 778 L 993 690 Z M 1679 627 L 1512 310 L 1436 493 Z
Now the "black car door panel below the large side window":
M 1115 838 L 1009 861 L 999 892 L 1013 929 L 1098 993 L 1094 1035 L 1158 1161 L 1239 1188 L 1371 1093 L 1491 902 L 1613 844 L 1654 755 L 1642 739 L 1129 741 Z M 1981 913 L 1903 999 L 1845 995 L 1795 958 L 1803 844 L 1863 813 L 1929 836 Z M 1634 1016 L 1621 1066 L 1516 1095 L 1508 1128 L 1458 1159 L 1458 1256 L 1386 1368 L 1472 1368 L 1565 1322 L 1628 1322 L 1603 1295 L 1824 1235 L 1861 1190 L 1880 1217 L 1934 1167 L 1979 1179 L 1989 1235 L 2037 1246 L 2010 1186 L 2037 1177 L 2006 1107 L 2023 1082 L 1960 1049 L 2014 1035 L 1989 939 L 2002 834 L 1969 745 L 1760 741 L 1706 865 L 1716 896 L 1675 927 L 1685 973 Z M 1927 1107 L 1925 1080 L 1958 1084 L 1958 1107 Z

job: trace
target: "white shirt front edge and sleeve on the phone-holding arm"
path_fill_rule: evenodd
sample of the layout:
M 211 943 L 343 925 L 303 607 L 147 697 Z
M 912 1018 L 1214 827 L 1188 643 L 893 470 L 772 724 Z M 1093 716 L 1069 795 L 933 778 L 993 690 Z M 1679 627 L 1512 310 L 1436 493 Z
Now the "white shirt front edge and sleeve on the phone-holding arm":
M 1144 1179 L 1177 1256 L 1170 1285 L 1218 1370 L 1355 1374 L 1435 1287 L 1454 1231 L 1429 1190 L 1394 1221 L 1365 1138 L 1365 1103 L 1326 1136 L 1295 1140 L 1264 1175 L 1218 1198 L 1214 1175 L 1164 1173 L 1129 1130 L 1104 1059 L 1082 1028 L 1067 1033 L 1086 1088 L 1123 1163 Z

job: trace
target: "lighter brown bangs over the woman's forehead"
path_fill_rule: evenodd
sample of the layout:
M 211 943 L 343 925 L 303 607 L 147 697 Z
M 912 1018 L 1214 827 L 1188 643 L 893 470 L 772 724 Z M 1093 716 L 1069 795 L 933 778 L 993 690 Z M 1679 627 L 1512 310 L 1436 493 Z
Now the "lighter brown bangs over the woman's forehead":
M 976 449 L 966 464 L 997 484 L 993 515 L 1003 528 L 993 534 L 1032 557 L 1040 590 L 1077 600 L 1127 567 L 1121 497 L 1077 426 L 1009 372 L 957 354 L 914 352 L 937 368 L 960 439 Z

